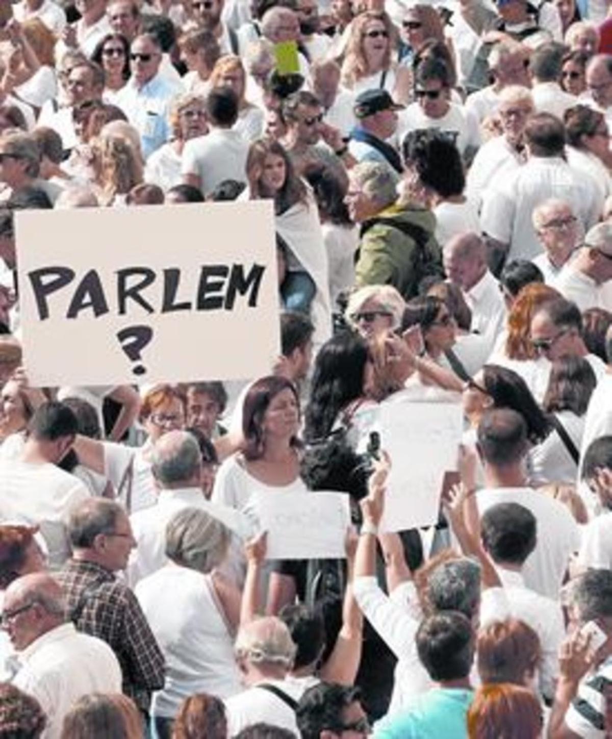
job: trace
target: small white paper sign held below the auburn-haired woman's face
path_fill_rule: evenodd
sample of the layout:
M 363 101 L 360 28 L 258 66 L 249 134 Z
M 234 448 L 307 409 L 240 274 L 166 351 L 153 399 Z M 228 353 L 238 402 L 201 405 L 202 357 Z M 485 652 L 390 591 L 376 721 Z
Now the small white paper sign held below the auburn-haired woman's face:
M 268 559 L 340 558 L 350 525 L 344 493 L 255 493 L 259 526 L 268 531 Z

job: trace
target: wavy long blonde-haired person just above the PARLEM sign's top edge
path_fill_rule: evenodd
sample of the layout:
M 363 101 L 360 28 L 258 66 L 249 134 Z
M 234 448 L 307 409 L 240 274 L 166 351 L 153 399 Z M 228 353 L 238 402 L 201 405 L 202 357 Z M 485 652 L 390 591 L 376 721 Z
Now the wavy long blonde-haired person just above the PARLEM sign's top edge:
M 120 136 L 101 135 L 92 143 L 94 188 L 101 205 L 124 205 L 126 195 L 143 182 L 137 151 Z

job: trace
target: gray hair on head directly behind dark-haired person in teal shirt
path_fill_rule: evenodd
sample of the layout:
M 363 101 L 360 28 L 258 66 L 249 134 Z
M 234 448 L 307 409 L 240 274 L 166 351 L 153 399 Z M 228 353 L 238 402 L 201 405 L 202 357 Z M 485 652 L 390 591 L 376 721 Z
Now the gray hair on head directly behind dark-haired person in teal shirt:
M 427 596 L 435 610 L 458 610 L 472 619 L 480 603 L 480 565 L 467 557 L 443 562 L 429 576 Z

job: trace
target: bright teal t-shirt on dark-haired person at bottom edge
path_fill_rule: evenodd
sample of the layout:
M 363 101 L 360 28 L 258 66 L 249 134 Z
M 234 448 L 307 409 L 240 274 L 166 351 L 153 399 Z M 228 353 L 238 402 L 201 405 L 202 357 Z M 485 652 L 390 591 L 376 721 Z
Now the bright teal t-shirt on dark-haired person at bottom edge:
M 473 690 L 433 688 L 406 712 L 378 723 L 375 739 L 467 739 L 466 715 L 473 698 Z

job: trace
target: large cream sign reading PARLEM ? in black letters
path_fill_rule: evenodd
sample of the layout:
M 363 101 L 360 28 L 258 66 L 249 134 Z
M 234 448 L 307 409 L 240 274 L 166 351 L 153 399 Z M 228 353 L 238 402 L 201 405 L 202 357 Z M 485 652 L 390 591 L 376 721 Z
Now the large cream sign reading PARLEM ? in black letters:
M 20 211 L 16 239 L 35 386 L 251 378 L 279 354 L 271 201 Z

